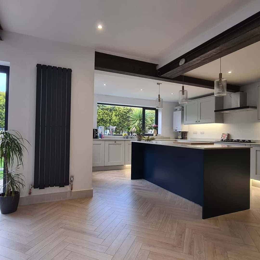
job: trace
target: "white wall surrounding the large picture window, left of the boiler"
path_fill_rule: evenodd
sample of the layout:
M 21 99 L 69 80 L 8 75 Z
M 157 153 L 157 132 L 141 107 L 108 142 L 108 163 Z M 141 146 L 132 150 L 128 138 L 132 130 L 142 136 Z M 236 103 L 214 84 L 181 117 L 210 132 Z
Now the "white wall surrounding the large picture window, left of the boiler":
M 155 100 L 135 99 L 129 97 L 117 97 L 108 95 L 94 95 L 94 109 L 93 109 L 93 128 L 97 127 L 97 103 L 111 103 L 118 105 L 132 105 L 155 107 Z M 177 134 L 173 133 L 173 110 L 179 104 L 173 102 L 164 102 L 164 108 L 158 111 L 158 133 L 165 137 L 174 138 Z

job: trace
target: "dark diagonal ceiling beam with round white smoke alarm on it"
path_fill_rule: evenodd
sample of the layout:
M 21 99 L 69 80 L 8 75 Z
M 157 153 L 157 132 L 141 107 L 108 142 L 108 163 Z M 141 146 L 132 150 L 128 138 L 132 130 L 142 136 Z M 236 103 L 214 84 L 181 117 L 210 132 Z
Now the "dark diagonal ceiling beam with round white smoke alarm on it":
M 157 75 L 174 78 L 234 51 L 260 41 L 260 11 L 157 70 Z M 186 62 L 179 65 L 182 58 Z

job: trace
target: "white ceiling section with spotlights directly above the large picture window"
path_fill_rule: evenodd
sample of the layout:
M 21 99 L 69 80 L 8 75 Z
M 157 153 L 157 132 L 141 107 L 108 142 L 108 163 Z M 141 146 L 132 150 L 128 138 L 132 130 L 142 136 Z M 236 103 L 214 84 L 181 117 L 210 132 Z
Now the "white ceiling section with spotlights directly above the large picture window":
M 100 95 L 155 100 L 158 97 L 157 82 L 162 83 L 160 85 L 160 95 L 164 101 L 178 102 L 178 91 L 181 89 L 181 84 L 103 72 L 99 70 L 95 70 L 94 93 Z M 104 83 L 106 86 L 103 86 Z M 214 94 L 214 90 L 212 89 L 187 85 L 185 85 L 185 89 L 188 90 L 188 99 Z M 174 94 L 172 95 L 171 93 Z

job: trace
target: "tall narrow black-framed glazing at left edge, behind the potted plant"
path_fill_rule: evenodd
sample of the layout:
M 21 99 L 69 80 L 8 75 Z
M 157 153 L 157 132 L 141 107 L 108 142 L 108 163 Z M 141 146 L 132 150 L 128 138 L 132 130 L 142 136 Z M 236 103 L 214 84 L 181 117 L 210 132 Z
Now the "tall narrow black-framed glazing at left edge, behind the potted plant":
M 9 67 L 0 65 L 0 129 L 8 126 Z M 4 182 L 3 161 L 0 162 L 0 190 Z

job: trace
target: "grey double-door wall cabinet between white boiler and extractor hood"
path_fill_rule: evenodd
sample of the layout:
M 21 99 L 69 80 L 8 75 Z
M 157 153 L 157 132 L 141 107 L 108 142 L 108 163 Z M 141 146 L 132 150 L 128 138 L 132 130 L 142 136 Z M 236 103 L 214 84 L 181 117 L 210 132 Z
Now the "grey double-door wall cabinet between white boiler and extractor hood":
M 223 97 L 203 97 L 184 105 L 184 124 L 223 123 L 223 114 L 214 110 L 223 108 Z

